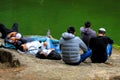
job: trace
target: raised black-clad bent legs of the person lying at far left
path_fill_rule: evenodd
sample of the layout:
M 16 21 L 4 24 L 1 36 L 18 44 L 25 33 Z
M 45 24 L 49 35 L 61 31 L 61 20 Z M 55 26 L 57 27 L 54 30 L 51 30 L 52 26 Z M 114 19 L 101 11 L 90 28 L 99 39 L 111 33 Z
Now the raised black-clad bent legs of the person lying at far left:
M 2 34 L 1 38 L 5 39 L 10 32 L 18 32 L 18 24 L 14 23 L 11 29 L 6 28 L 2 23 L 0 23 L 0 32 Z

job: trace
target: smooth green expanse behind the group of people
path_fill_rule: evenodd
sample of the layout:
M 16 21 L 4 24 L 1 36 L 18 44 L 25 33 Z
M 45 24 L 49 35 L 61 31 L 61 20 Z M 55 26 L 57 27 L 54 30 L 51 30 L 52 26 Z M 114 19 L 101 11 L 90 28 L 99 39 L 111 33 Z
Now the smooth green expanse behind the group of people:
M 8 28 L 18 22 L 24 35 L 45 35 L 47 30 L 59 39 L 69 25 L 79 28 L 89 20 L 92 28 L 107 29 L 115 44 L 120 45 L 119 0 L 2 0 L 0 2 L 0 22 Z

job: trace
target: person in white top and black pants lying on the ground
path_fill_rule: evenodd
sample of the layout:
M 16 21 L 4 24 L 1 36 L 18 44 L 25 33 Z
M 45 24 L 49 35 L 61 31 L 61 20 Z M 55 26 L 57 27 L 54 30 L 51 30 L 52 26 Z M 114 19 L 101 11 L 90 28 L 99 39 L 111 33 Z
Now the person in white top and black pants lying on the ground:
M 22 44 L 18 51 L 20 53 L 27 53 L 35 55 L 40 59 L 61 60 L 61 55 L 53 48 L 46 49 L 47 42 L 32 41 Z

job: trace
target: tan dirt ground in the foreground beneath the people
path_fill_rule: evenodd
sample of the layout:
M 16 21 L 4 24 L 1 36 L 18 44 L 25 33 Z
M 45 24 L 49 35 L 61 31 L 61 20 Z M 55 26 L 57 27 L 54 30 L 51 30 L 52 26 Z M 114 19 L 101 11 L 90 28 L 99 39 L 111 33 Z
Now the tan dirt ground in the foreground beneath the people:
M 14 53 L 22 65 L 10 68 L 0 64 L 0 80 L 120 80 L 120 50 L 113 49 L 107 63 L 91 63 L 87 59 L 78 66 L 66 65 L 62 60 Z

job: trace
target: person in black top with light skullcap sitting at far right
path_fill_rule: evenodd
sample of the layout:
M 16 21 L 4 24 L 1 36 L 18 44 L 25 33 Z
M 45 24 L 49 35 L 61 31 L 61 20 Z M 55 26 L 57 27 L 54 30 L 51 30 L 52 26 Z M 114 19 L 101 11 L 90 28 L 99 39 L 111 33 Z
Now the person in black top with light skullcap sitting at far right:
M 106 36 L 106 30 L 100 28 L 98 36 L 90 39 L 89 48 L 92 50 L 92 63 L 106 62 L 112 53 L 113 40 Z

